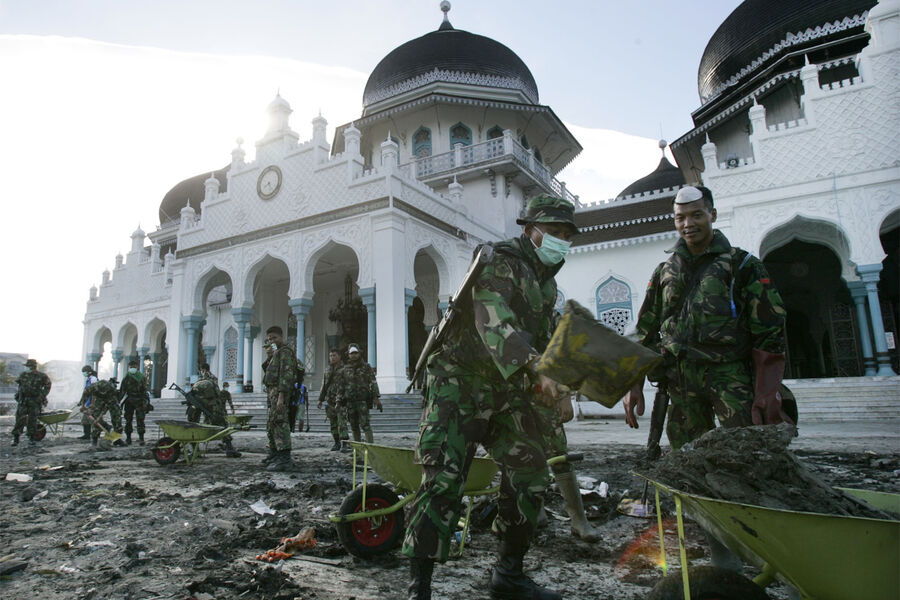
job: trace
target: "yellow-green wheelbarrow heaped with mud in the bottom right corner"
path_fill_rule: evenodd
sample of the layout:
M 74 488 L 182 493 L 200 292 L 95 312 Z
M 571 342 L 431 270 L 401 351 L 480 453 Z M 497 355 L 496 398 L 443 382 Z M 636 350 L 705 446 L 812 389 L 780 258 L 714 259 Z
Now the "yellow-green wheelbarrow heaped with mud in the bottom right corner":
M 669 575 L 660 582 L 649 598 L 768 598 L 763 589 L 776 578 L 796 588 L 804 600 L 900 598 L 900 520 L 765 508 L 689 494 L 652 479 L 648 481 L 656 487 L 662 564 L 665 546 L 659 516 L 660 490 L 675 499 L 683 567 L 680 574 Z M 898 494 L 838 489 L 900 516 Z M 760 574 L 751 581 L 727 571 L 720 577 L 724 570 L 713 567 L 684 568 L 685 510 L 729 550 L 758 567 Z

